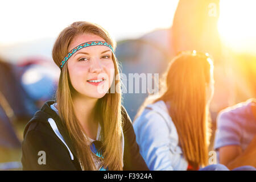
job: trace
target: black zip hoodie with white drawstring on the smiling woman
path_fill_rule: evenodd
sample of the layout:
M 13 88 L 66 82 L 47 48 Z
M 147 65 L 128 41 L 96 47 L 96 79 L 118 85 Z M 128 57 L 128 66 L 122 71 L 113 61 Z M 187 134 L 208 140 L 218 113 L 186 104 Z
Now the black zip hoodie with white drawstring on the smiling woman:
M 51 109 L 51 105 L 55 102 L 55 100 L 47 101 L 40 110 L 36 111 L 24 129 L 23 170 L 82 170 L 67 128 L 62 124 L 59 115 Z M 147 171 L 148 167 L 139 153 L 131 119 L 123 106 L 122 116 L 124 118 L 122 130 L 125 138 L 123 170 Z M 48 122 L 49 118 L 55 121 L 67 146 L 53 131 Z M 46 164 L 40 162 L 43 155 L 46 157 Z

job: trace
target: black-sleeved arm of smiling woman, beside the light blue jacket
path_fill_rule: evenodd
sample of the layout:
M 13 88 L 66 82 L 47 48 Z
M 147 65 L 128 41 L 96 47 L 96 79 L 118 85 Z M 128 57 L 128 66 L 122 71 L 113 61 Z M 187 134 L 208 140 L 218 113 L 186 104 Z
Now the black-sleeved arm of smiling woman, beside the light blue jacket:
M 141 154 L 139 153 L 139 146 L 136 142 L 136 136 L 134 133 L 131 119 L 122 106 L 122 115 L 124 118 L 123 123 L 123 135 L 125 137 L 125 148 L 123 154 L 123 170 L 131 171 L 148 171 L 147 164 L 144 162 Z

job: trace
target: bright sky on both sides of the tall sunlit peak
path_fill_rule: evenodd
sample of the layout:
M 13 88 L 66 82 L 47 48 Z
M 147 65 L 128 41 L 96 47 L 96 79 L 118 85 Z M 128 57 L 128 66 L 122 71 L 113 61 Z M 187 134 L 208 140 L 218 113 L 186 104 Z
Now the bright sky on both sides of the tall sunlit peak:
M 33 52 L 51 57 L 52 44 L 60 31 L 79 20 L 100 24 L 116 41 L 138 38 L 156 28 L 171 27 L 178 2 L 3 1 L 0 7 L 0 56 L 15 60 Z M 220 0 L 218 31 L 226 46 L 256 55 L 255 7 L 255 0 Z

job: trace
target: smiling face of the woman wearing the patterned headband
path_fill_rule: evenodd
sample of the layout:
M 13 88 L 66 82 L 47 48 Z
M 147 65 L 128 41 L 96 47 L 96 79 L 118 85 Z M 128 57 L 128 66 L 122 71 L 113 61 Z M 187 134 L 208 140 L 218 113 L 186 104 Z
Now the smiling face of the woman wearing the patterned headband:
M 93 34 L 77 35 L 69 45 L 68 51 L 81 43 L 93 40 L 105 41 L 100 36 Z M 105 96 L 114 78 L 114 62 L 109 47 L 82 48 L 69 58 L 67 64 L 71 84 L 77 94 L 89 98 Z

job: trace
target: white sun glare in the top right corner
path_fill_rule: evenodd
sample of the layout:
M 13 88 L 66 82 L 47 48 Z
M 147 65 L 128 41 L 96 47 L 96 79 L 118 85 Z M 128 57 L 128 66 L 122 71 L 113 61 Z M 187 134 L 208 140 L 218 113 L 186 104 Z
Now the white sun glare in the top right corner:
M 218 31 L 226 46 L 256 54 L 256 1 L 221 0 Z

